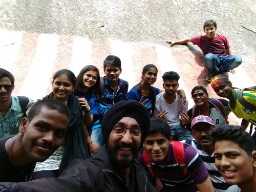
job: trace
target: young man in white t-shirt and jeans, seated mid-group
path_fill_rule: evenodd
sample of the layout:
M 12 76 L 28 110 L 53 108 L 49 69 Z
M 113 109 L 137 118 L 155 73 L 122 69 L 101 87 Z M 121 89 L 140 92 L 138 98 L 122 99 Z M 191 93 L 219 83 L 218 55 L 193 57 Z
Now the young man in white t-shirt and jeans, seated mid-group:
M 179 141 L 193 139 L 180 117 L 187 113 L 188 106 L 188 101 L 184 105 L 177 93 L 180 76 L 174 71 L 169 71 L 165 72 L 162 78 L 164 92 L 156 96 L 156 118 L 162 118 L 168 123 L 173 139 Z

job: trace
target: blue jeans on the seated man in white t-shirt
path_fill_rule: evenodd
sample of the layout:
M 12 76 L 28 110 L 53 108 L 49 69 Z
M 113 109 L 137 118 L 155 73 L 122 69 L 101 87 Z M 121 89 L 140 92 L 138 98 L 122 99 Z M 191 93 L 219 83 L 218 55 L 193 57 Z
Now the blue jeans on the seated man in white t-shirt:
M 182 125 L 170 125 L 173 139 L 182 141 L 186 139 L 194 139 L 191 133 Z

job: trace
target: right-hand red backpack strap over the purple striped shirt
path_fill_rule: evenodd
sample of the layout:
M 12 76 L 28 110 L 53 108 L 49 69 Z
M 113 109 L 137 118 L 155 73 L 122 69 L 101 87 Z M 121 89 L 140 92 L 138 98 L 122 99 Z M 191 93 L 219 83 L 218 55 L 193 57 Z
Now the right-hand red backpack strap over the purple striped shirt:
M 185 155 L 184 155 L 184 147 L 183 143 L 179 141 L 173 141 L 173 150 L 174 150 L 174 157 L 176 162 L 181 166 L 183 169 L 184 175 L 188 175 L 188 170 L 185 164 Z

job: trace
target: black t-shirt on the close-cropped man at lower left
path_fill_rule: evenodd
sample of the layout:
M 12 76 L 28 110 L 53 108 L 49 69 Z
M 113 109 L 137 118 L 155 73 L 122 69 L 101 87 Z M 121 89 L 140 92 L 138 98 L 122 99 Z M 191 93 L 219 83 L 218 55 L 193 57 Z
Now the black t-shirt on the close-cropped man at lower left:
M 6 153 L 5 143 L 14 135 L 0 138 L 0 182 L 23 182 L 28 181 L 36 162 L 26 165 L 14 166 Z

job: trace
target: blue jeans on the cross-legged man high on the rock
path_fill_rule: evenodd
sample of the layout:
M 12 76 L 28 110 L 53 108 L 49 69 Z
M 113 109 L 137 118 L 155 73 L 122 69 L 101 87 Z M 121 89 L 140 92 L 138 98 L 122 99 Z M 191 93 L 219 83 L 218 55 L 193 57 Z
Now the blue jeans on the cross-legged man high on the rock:
M 242 58 L 235 55 L 215 55 L 208 53 L 204 56 L 204 63 L 208 72 L 228 72 L 242 63 Z

